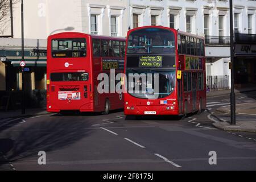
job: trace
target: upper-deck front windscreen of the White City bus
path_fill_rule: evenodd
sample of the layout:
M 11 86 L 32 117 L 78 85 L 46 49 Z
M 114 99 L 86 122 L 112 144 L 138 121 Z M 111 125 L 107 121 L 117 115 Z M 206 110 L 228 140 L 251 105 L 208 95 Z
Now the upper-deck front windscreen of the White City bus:
M 144 28 L 131 32 L 127 54 L 175 54 L 175 35 L 163 28 Z

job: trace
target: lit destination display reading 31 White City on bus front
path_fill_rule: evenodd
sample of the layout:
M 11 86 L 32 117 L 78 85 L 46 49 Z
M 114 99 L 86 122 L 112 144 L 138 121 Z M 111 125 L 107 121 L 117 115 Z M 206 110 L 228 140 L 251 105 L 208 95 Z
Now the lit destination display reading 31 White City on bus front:
M 141 68 L 161 68 L 163 62 L 162 56 L 140 56 L 139 67 Z

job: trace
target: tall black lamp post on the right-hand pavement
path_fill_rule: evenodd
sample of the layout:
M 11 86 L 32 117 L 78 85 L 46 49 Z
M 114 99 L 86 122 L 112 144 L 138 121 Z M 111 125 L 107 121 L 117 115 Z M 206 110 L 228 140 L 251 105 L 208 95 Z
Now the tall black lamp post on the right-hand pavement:
M 230 120 L 236 125 L 236 95 L 234 93 L 234 33 L 233 33 L 233 0 L 229 0 L 230 13 L 230 62 L 231 62 L 231 93 L 230 93 Z

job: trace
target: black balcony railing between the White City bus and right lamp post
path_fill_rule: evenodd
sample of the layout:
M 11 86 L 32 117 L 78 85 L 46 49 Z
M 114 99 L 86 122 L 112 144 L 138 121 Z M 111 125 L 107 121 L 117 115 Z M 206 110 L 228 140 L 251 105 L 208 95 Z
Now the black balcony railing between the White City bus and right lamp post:
M 206 46 L 229 46 L 230 36 L 208 36 L 205 35 Z

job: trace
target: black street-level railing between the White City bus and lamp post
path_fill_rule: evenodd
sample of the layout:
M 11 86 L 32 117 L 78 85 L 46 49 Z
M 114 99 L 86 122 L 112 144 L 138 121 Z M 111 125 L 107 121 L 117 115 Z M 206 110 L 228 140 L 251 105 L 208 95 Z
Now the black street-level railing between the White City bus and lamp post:
M 207 91 L 229 89 L 229 76 L 207 76 Z

